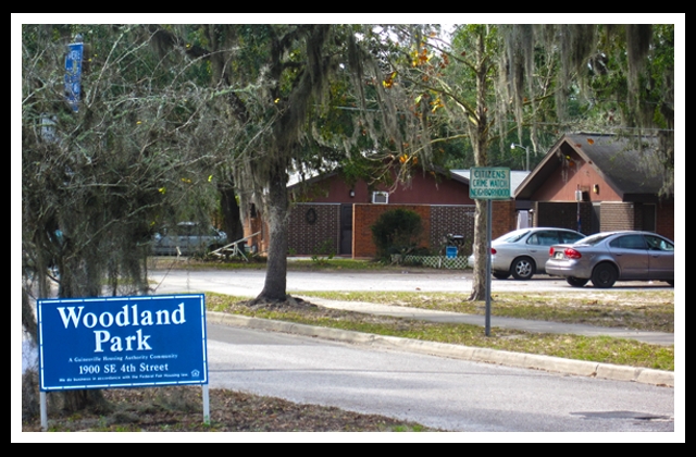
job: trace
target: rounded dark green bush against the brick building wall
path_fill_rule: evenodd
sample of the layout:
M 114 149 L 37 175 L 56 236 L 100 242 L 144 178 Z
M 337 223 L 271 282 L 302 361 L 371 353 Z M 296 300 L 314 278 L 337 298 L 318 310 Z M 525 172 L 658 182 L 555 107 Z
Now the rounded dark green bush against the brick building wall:
M 389 259 L 393 254 L 411 254 L 418 248 L 422 235 L 423 220 L 420 214 L 405 209 L 385 212 L 372 226 L 377 258 L 383 260 Z

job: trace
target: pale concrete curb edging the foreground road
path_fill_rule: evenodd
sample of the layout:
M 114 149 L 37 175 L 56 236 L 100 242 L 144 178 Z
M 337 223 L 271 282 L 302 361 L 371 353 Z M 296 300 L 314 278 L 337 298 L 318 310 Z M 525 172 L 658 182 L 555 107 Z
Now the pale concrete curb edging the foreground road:
M 206 319 L 208 322 L 216 324 L 284 332 L 302 336 L 314 336 L 373 347 L 408 350 L 431 356 L 497 363 L 507 367 L 527 368 L 579 376 L 600 378 L 613 381 L 630 381 L 642 384 L 674 387 L 674 373 L 671 371 L 571 360 L 533 354 L 510 353 L 506 350 L 459 346 L 446 343 L 422 342 L 418 339 L 400 338 L 397 336 L 383 336 L 339 329 L 326 329 L 293 322 L 226 314 L 223 312 L 208 311 Z

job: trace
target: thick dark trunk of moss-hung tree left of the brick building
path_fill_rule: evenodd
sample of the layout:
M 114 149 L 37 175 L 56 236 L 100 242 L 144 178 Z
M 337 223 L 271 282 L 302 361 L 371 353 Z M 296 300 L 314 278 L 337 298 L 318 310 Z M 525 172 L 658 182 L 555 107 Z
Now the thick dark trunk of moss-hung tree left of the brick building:
M 262 301 L 285 301 L 287 299 L 287 247 L 289 197 L 287 172 L 276 168 L 272 174 L 266 214 L 270 231 L 269 262 L 263 291 L 257 297 Z

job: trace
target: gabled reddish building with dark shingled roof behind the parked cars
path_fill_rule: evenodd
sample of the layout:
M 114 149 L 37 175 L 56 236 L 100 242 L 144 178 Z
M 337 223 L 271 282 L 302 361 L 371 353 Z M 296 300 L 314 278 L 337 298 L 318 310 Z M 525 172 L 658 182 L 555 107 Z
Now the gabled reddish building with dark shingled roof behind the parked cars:
M 663 171 L 643 138 L 638 151 L 626 138 L 569 134 L 550 148 L 514 193 L 534 209 L 535 226 L 558 226 L 591 235 L 646 230 L 674 239 L 674 198 L 660 197 Z

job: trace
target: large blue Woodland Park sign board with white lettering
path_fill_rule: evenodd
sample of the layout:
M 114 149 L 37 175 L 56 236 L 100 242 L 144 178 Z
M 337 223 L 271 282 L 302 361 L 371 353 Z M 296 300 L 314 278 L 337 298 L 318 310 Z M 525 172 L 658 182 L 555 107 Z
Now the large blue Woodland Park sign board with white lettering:
M 37 301 L 41 392 L 208 384 L 203 295 Z

